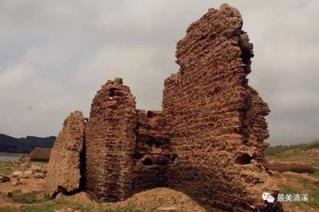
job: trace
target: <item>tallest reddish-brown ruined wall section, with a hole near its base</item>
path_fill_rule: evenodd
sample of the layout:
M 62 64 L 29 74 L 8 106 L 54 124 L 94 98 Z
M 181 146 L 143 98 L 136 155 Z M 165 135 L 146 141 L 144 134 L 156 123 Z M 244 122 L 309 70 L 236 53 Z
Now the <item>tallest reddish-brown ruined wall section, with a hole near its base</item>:
M 267 109 L 247 85 L 253 53 L 241 27 L 240 13 L 226 4 L 193 22 L 177 43 L 180 70 L 165 80 L 163 92 L 170 148 L 177 155 L 168 185 L 226 211 L 277 207 L 261 200 L 263 192 L 275 191 L 257 161 L 267 131 L 260 116 L 266 112 L 258 111 Z M 257 116 L 258 122 L 249 119 Z

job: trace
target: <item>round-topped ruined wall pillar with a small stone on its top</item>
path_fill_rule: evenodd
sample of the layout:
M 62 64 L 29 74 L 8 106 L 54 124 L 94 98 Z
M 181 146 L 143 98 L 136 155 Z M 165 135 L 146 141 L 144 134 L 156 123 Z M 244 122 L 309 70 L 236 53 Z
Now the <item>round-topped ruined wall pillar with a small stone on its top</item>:
M 93 99 L 86 139 L 86 188 L 97 200 L 121 201 L 133 187 L 135 98 L 122 80 L 109 81 Z

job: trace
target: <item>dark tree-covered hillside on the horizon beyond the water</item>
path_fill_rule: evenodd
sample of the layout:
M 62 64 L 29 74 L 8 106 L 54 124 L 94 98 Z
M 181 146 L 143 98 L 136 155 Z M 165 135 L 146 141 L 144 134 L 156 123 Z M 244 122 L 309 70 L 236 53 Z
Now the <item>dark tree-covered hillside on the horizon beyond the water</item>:
M 34 148 L 51 148 L 55 136 L 45 138 L 26 136 L 25 138 L 14 138 L 0 133 L 0 152 L 30 153 Z

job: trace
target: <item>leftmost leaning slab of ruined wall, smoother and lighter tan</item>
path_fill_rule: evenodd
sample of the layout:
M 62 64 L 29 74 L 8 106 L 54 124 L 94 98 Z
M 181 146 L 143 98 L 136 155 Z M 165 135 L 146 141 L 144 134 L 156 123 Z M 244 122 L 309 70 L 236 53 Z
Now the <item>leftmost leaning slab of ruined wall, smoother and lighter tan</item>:
M 72 112 L 54 141 L 47 166 L 45 190 L 50 197 L 57 192 L 73 192 L 80 187 L 80 154 L 84 142 L 82 112 Z

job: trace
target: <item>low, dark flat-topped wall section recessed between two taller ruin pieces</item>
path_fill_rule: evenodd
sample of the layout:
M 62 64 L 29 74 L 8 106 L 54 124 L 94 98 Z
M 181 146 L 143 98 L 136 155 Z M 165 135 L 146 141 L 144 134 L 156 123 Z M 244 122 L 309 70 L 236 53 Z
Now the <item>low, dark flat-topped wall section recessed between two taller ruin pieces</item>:
M 167 187 L 166 171 L 175 157 L 170 153 L 170 130 L 161 111 L 138 110 L 134 193 Z

